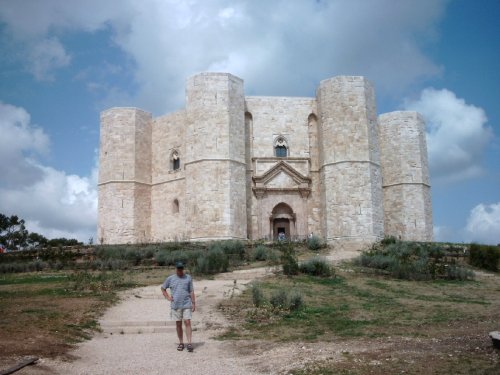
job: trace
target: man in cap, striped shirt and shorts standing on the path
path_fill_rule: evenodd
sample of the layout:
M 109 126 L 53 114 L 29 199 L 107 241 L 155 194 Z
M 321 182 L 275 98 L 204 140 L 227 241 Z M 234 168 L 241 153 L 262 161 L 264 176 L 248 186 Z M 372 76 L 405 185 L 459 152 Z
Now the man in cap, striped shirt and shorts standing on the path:
M 169 276 L 161 286 L 161 292 L 167 300 L 171 302 L 171 317 L 175 320 L 177 328 L 177 337 L 179 337 L 179 346 L 177 350 L 184 350 L 184 333 L 182 332 L 182 321 L 186 326 L 186 338 L 188 341 L 188 352 L 193 351 L 191 343 L 192 329 L 191 317 L 196 309 L 194 298 L 193 280 L 191 276 L 184 273 L 184 264 L 177 262 L 175 264 L 175 275 Z M 168 294 L 167 289 L 170 288 L 171 294 Z

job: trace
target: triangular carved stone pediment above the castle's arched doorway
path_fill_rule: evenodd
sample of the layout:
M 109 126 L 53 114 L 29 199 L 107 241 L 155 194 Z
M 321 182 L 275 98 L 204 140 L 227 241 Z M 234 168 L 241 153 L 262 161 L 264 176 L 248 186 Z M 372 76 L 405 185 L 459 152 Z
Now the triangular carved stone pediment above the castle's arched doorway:
M 311 192 L 311 179 L 304 176 L 288 163 L 281 160 L 266 173 L 253 177 L 253 191 L 257 198 L 267 193 L 297 192 L 308 197 Z

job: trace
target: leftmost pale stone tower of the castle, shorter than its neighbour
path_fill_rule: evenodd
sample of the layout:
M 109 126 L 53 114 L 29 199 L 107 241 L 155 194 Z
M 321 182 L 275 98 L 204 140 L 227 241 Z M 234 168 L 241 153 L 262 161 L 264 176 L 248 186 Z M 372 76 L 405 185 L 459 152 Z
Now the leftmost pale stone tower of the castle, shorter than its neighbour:
M 102 243 L 149 241 L 151 114 L 112 108 L 101 114 L 97 235 Z

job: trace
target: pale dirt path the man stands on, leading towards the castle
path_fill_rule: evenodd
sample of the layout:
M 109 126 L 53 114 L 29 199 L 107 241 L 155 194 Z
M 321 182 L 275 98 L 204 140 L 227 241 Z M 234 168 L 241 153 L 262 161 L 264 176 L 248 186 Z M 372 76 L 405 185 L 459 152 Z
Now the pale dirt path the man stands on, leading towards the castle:
M 336 262 L 356 255 L 336 254 Z M 121 302 L 100 319 L 103 332 L 70 354 L 74 360 L 42 359 L 19 374 L 270 374 L 281 373 L 312 359 L 341 357 L 353 352 L 349 343 L 319 349 L 312 344 L 290 343 L 269 347 L 252 342 L 217 341 L 214 336 L 229 325 L 217 303 L 241 293 L 252 280 L 271 275 L 271 268 L 220 274 L 214 280 L 195 281 L 197 311 L 193 316 L 194 353 L 178 352 L 169 304 L 159 286 L 122 293 Z M 362 351 L 369 348 L 360 348 Z M 171 370 L 169 370 L 171 369 Z

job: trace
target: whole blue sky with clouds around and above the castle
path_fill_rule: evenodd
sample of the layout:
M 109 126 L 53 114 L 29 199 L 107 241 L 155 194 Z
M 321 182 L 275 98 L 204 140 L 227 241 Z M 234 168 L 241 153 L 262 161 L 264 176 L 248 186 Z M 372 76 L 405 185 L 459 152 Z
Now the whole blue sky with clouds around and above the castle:
M 246 95 L 362 75 L 426 120 L 438 241 L 500 243 L 498 0 L 0 0 L 0 213 L 96 237 L 99 113 L 184 107 L 222 71 Z

